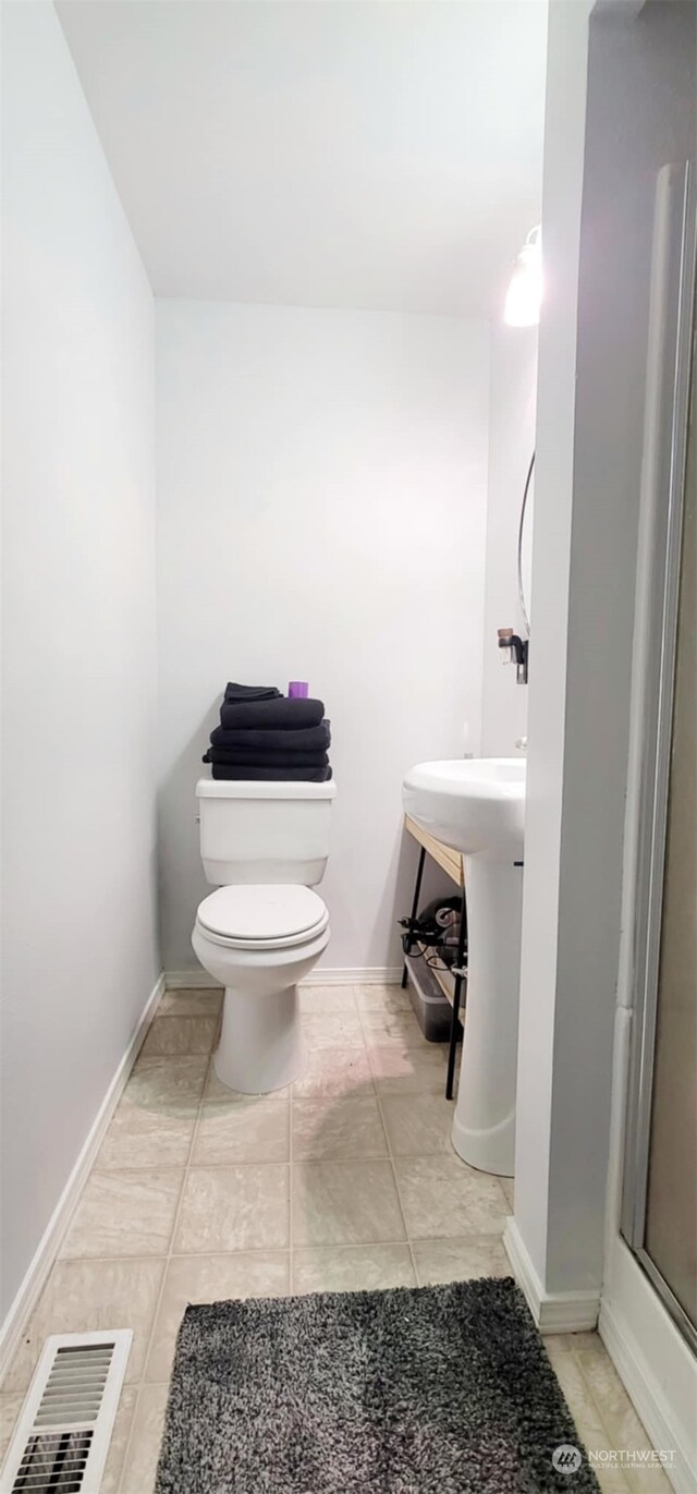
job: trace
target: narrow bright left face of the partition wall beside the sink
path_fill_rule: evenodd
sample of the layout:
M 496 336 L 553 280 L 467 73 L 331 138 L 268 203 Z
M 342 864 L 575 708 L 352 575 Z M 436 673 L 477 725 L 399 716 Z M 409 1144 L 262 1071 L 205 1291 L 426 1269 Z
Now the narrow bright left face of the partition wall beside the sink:
M 515 1224 L 546 1289 L 557 922 L 564 775 L 576 315 L 593 0 L 551 0 L 545 109 L 545 303 L 539 327 L 534 651 L 528 684 Z M 585 1140 L 585 1138 L 584 1138 Z

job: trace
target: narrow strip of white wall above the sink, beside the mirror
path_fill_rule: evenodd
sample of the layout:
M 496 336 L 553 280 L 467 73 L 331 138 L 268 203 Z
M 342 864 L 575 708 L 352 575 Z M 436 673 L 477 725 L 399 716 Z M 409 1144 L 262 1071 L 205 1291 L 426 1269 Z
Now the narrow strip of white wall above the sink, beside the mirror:
M 521 638 L 527 636 L 518 602 L 518 527 L 534 448 L 536 382 L 537 329 L 494 323 L 484 607 L 482 751 L 487 757 L 516 756 L 515 743 L 527 732 L 527 686 L 516 683 L 515 665 L 503 663 L 497 629 L 512 627 Z M 525 514 L 524 556 L 530 553 L 533 493 L 534 483 Z M 527 604 L 531 611 L 530 596 Z

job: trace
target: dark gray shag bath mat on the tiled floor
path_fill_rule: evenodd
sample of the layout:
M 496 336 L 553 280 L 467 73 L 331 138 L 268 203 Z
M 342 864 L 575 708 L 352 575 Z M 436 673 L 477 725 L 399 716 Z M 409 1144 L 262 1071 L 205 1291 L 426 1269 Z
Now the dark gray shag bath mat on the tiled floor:
M 213 1303 L 179 1330 L 155 1494 L 598 1494 L 564 1445 L 510 1279 Z

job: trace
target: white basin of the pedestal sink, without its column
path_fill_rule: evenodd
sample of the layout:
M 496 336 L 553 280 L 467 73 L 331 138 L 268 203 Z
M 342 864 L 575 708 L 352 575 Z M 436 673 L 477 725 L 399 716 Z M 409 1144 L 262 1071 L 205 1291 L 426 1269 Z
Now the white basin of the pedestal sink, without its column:
M 466 856 L 522 856 L 525 763 L 519 757 L 457 757 L 410 768 L 404 810 L 436 840 Z

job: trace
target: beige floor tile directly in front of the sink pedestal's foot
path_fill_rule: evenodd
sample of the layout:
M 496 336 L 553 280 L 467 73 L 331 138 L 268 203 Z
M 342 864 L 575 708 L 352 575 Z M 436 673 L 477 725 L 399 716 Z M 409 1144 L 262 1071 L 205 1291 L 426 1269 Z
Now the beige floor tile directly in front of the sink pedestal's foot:
M 394 1170 L 410 1240 L 501 1234 L 507 1204 L 496 1177 L 455 1155 L 397 1158 Z

